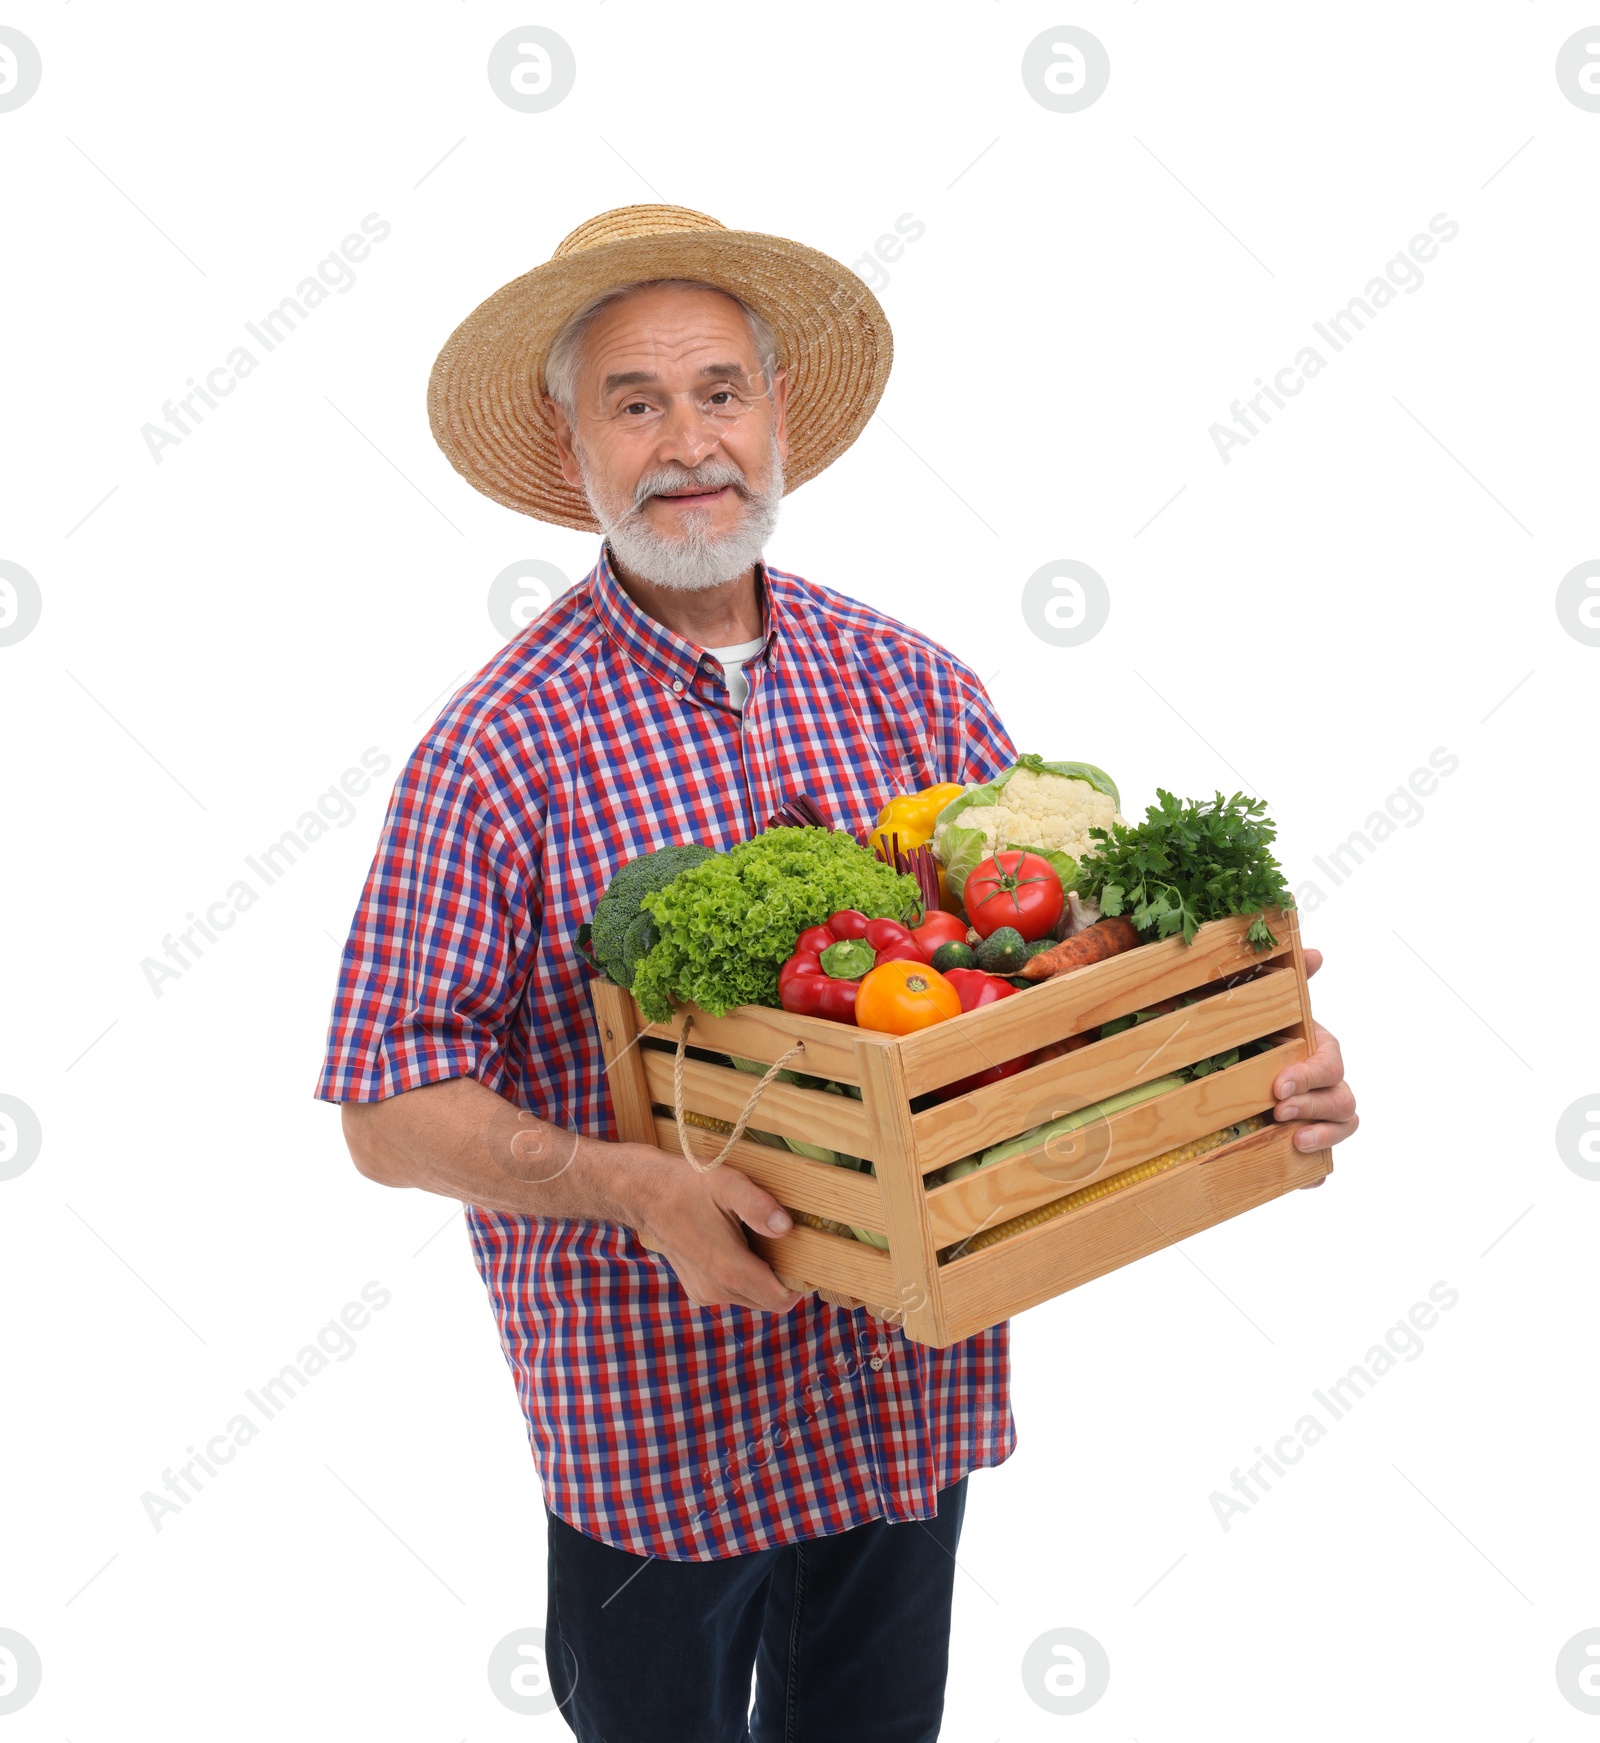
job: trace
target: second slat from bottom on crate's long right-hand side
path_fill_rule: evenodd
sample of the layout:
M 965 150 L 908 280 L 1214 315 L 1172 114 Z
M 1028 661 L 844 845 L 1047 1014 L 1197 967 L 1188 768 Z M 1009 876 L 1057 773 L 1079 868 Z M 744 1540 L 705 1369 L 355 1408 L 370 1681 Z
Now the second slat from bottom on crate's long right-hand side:
M 1065 1131 L 1039 1149 L 934 1187 L 927 1194 L 934 1246 L 964 1241 L 980 1229 L 1265 1112 L 1272 1105 L 1272 1079 L 1304 1056 L 1302 1041 L 1285 1041 L 1225 1072 L 1211 1072 L 1182 1089 L 1168 1089 L 1079 1131 Z

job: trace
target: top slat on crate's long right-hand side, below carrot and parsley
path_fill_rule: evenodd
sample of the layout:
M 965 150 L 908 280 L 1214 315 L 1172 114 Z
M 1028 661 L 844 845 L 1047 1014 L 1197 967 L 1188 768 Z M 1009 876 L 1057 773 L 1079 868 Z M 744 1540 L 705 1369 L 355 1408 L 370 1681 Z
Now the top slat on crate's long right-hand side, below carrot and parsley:
M 1016 999 L 1002 999 L 915 1035 L 901 1035 L 906 1089 L 912 1095 L 938 1089 L 1049 1041 L 1065 1041 L 1086 1028 L 1098 1028 L 1114 1016 L 1128 1016 L 1161 999 L 1194 992 L 1206 981 L 1281 960 L 1290 952 L 1292 920 L 1288 915 L 1271 913 L 1267 922 L 1278 946 L 1260 955 L 1246 943 L 1248 920 L 1211 920 L 1194 934 L 1192 945 L 1185 945 L 1182 938 L 1138 945 L 1119 957 L 1107 957 L 1105 962 L 1030 987 Z

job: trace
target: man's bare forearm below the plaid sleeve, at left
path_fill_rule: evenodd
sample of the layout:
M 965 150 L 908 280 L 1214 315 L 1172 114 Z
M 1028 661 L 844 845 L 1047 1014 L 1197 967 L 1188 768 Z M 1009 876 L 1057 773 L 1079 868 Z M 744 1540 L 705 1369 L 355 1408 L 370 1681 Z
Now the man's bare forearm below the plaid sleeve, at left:
M 671 1159 L 533 1119 L 472 1077 L 347 1102 L 345 1142 L 369 1180 L 420 1187 L 485 1210 L 633 1227 Z

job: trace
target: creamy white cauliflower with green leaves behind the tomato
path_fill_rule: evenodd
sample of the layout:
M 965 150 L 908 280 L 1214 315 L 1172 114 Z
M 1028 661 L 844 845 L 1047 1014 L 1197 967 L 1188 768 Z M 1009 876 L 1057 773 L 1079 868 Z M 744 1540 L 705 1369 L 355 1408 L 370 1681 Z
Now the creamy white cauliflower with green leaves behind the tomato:
M 1103 769 L 1021 756 L 993 781 L 969 786 L 939 812 L 934 856 L 957 896 L 978 861 L 1006 847 L 1047 856 L 1070 891 L 1077 861 L 1100 845 L 1089 830 L 1126 821 L 1117 805 L 1117 786 Z

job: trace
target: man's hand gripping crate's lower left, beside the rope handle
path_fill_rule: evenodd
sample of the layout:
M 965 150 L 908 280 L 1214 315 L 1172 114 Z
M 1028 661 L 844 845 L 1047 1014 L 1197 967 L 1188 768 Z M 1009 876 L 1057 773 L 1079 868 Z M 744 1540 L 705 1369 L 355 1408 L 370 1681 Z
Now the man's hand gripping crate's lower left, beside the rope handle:
M 798 1290 L 779 1283 L 767 1260 L 749 1250 L 741 1229 L 746 1224 L 762 1234 L 788 1234 L 790 1213 L 770 1192 L 727 1164 L 702 1173 L 681 1156 L 636 1149 L 652 1161 L 640 1171 L 640 1190 L 629 1194 L 629 1220 L 697 1307 L 788 1312 L 800 1302 Z

